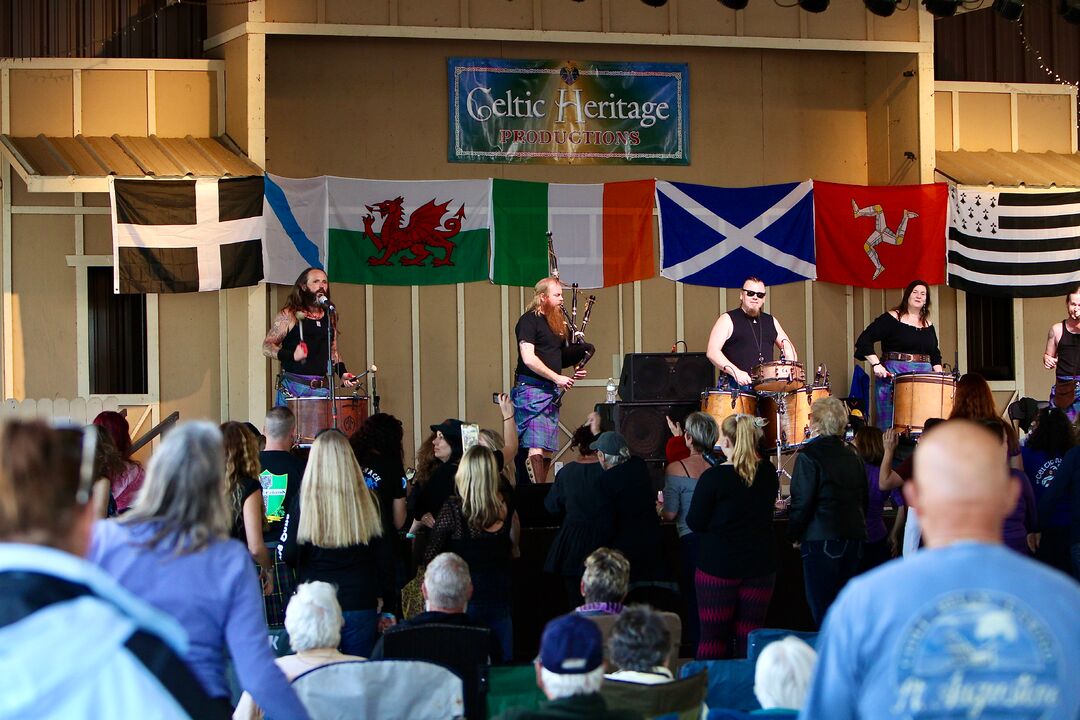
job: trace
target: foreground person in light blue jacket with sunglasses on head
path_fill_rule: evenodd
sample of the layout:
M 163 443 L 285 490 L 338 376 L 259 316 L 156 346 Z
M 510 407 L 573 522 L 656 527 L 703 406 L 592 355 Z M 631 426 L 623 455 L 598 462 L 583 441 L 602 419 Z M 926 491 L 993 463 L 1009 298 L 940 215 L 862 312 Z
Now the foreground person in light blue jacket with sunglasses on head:
M 227 718 L 184 629 L 82 559 L 109 492 L 95 437 L 0 424 L 0 718 Z

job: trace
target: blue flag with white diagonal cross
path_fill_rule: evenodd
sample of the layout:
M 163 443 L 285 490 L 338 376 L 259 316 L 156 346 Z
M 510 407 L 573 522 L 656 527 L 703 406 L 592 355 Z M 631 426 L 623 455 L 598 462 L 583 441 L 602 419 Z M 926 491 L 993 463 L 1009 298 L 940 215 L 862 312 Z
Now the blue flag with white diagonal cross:
M 710 287 L 816 277 L 813 184 L 714 188 L 657 181 L 660 274 Z

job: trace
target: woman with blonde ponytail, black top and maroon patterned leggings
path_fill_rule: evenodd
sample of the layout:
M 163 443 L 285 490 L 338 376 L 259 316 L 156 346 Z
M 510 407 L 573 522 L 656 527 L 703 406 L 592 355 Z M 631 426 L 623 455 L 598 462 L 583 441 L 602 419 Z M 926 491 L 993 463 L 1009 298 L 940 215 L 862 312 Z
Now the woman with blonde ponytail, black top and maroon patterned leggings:
M 758 418 L 730 416 L 720 425 L 727 461 L 706 470 L 686 524 L 701 538 L 698 551 L 698 660 L 746 655 L 746 636 L 765 624 L 777 584 L 772 511 L 777 470 L 758 456 Z

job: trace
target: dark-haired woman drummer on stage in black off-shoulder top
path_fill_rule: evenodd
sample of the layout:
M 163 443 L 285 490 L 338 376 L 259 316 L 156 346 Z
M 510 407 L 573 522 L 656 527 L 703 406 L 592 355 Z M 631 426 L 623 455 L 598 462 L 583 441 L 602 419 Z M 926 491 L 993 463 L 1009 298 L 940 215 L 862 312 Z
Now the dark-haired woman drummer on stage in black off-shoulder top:
M 874 351 L 881 343 L 881 355 Z M 866 361 L 874 371 L 877 426 L 892 427 L 892 377 L 900 372 L 942 371 L 937 332 L 930 322 L 930 286 L 912 281 L 900 304 L 882 313 L 855 340 L 855 359 Z

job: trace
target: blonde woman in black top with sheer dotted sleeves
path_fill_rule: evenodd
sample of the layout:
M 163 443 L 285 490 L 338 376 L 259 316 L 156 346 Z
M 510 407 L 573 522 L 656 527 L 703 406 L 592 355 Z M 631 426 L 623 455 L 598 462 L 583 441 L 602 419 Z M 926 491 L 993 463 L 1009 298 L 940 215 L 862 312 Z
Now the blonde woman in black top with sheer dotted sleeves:
M 483 445 L 469 448 L 461 458 L 455 485 L 457 492 L 446 500 L 435 519 L 424 562 L 449 551 L 469 563 L 473 595 L 465 612 L 491 628 L 502 648 L 503 661 L 510 661 L 514 506 L 499 489 L 495 453 Z

